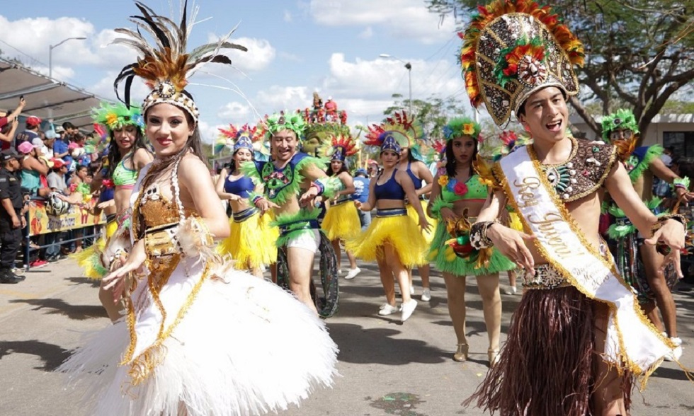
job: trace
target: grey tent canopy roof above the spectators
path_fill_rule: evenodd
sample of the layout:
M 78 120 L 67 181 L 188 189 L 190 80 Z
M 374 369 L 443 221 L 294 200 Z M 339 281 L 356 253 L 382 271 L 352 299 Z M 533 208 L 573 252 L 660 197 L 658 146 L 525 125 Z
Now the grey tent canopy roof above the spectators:
M 79 129 L 91 130 L 91 108 L 98 107 L 103 100 L 81 88 L 0 58 L 0 109 L 14 110 L 20 96 L 27 102 L 22 115 L 40 117 L 42 129 L 48 128 L 47 122 L 62 125 L 69 121 Z

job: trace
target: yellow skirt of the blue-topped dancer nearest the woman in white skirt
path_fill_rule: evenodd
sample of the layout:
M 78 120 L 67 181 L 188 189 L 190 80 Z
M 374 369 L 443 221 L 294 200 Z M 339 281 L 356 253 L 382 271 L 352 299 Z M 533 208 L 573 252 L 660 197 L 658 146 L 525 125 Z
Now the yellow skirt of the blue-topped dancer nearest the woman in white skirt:
M 239 270 L 252 270 L 277 261 L 277 227 L 270 226 L 271 216 L 259 212 L 241 222 L 229 219 L 231 233 L 217 245 L 217 253 L 229 254 L 237 260 Z

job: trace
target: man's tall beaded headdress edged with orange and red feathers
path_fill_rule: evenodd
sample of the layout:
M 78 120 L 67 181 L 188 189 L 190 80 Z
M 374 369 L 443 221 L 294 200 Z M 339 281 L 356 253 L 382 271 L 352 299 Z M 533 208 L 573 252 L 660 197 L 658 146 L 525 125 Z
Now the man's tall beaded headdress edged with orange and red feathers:
M 484 101 L 496 125 L 504 125 L 530 95 L 548 86 L 579 93 L 573 64 L 584 47 L 549 6 L 531 0 L 496 0 L 478 6 L 465 30 L 460 64 L 470 103 Z

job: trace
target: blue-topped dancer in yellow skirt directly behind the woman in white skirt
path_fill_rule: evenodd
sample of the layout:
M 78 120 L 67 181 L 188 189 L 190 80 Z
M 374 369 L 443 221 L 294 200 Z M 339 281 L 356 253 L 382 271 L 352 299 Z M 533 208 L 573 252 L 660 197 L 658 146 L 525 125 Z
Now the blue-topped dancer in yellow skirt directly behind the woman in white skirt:
M 256 185 L 239 170 L 241 163 L 253 160 L 253 141 L 258 139 L 258 132 L 256 127 L 249 125 L 240 129 L 229 125 L 228 130 L 220 131 L 235 143 L 231 166 L 222 169 L 217 180 L 217 195 L 229 201 L 233 212 L 229 219 L 231 233 L 217 245 L 217 253 L 231 255 L 236 260 L 237 269 L 249 270 L 262 278 L 263 266 L 273 265 L 277 261 L 275 243 L 279 231 L 270 225 L 272 219 L 269 212 L 261 213 L 249 203 L 249 196 L 255 191 Z

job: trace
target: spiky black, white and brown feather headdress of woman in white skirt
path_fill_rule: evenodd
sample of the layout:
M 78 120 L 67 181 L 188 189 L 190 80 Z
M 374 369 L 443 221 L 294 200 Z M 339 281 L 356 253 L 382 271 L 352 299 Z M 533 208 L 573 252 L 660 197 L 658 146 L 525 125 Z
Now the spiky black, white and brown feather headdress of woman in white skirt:
M 113 40 L 113 43 L 132 47 L 140 56 L 137 62 L 124 67 L 116 77 L 113 82 L 116 96 L 120 99 L 118 86 L 125 81 L 123 102 L 125 105 L 130 105 L 132 80 L 135 76 L 140 76 L 147 86 L 152 88 L 152 92 L 142 103 L 142 114 L 146 113 L 152 105 L 169 103 L 186 110 L 197 123 L 200 115 L 198 107 L 185 90 L 188 78 L 208 62 L 232 64 L 229 57 L 220 54 L 221 50 L 236 49 L 245 52 L 246 47 L 227 42 L 229 36 L 234 33 L 232 30 L 217 42 L 207 43 L 188 52 L 188 36 L 198 11 L 197 8 L 194 9 L 189 24 L 188 0 L 183 3 L 181 23 L 178 25 L 170 18 L 157 15 L 140 1 L 135 1 L 135 6 L 140 9 L 142 16 L 130 16 L 128 20 L 137 25 L 137 30 L 115 29 L 115 32 L 128 37 L 118 37 Z M 154 42 L 150 44 L 140 30 L 152 35 Z

